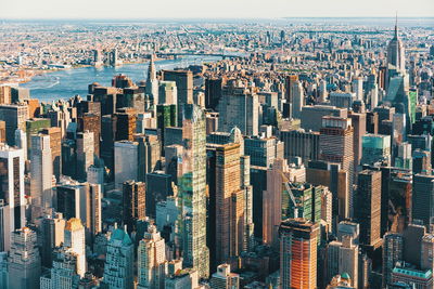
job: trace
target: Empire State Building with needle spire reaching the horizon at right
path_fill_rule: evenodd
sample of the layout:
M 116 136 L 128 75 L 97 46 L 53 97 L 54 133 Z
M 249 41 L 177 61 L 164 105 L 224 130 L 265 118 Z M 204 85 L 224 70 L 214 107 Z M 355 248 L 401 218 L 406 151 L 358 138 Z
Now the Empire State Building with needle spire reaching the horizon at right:
M 403 41 L 398 36 L 398 16 L 395 21 L 395 34 L 387 45 L 387 70 L 396 70 L 396 73 L 406 71 L 405 49 Z M 388 75 L 391 76 L 391 74 Z

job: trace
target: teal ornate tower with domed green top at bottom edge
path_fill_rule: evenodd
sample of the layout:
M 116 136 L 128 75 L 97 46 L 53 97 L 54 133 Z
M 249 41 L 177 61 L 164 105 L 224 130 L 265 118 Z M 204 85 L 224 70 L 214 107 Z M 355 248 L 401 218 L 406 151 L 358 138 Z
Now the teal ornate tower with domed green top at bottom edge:
M 105 257 L 103 284 L 108 289 L 133 288 L 133 244 L 127 232 L 113 231 Z

